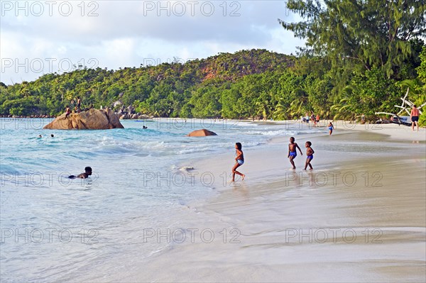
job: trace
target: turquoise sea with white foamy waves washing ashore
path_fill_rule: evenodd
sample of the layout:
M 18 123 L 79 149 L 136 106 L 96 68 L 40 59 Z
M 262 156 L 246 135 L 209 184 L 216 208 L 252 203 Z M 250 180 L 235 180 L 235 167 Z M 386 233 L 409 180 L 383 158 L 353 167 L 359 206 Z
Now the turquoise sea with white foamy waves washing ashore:
M 143 243 L 143 228 L 173 226 L 188 203 L 217 194 L 212 178 L 230 180 L 234 143 L 250 148 L 312 132 L 297 123 L 171 118 L 108 131 L 43 130 L 51 120 L 0 119 L 2 282 L 72 281 L 117 258 L 160 253 L 168 243 Z M 200 128 L 218 135 L 185 136 Z M 224 152 L 221 176 L 190 167 Z M 91 178 L 67 178 L 86 166 Z

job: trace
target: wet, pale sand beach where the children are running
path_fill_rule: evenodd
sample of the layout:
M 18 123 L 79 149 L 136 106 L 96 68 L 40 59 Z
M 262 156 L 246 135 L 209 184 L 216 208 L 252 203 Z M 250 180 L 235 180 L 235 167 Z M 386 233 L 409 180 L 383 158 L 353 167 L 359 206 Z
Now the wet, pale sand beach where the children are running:
M 135 259 L 127 277 L 115 279 L 425 282 L 425 129 L 342 121 L 334 127 L 331 136 L 295 135 L 303 152 L 296 170 L 289 169 L 289 137 L 262 148 L 243 145 L 244 181 L 229 184 L 232 145 L 191 164 L 214 176 L 219 194 L 182 212 L 187 217 L 170 227 L 180 233 L 169 250 L 149 262 Z M 306 140 L 315 150 L 307 172 Z

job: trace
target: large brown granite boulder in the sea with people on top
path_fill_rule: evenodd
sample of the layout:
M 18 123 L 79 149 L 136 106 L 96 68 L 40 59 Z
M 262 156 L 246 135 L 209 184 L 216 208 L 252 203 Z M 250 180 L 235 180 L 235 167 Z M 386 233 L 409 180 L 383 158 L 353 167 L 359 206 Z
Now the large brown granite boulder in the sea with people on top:
M 52 130 L 107 130 L 111 128 L 124 128 L 119 118 L 111 109 L 89 109 L 80 113 L 71 113 L 65 117 L 65 113 L 58 116 L 45 129 Z

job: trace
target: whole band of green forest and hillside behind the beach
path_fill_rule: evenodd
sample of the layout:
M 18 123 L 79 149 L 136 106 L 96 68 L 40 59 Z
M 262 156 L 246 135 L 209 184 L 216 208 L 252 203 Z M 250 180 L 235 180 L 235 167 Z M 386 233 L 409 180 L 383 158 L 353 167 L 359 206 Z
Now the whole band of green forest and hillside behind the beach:
M 34 82 L 1 84 L 0 114 L 58 115 L 80 96 L 83 109 L 121 101 L 115 110 L 131 105 L 137 112 L 161 117 L 289 119 L 313 111 L 324 118 L 361 113 L 373 118 L 375 111 L 394 111 L 408 85 L 410 99 L 425 101 L 416 71 L 423 44 L 411 44 L 416 52 L 391 77 L 379 67 L 360 70 L 346 62 L 335 67 L 326 57 L 267 50 L 120 70 L 82 67 L 45 74 Z

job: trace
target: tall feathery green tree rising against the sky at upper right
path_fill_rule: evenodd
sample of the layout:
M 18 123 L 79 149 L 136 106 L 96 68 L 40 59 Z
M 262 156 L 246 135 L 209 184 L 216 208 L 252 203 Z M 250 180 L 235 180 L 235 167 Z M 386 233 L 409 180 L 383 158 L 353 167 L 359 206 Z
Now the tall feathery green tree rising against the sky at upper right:
M 378 67 L 386 77 L 415 55 L 410 40 L 426 35 L 426 2 L 420 0 L 289 0 L 287 8 L 304 18 L 279 20 L 306 39 L 302 52 L 334 65 L 354 60 L 366 70 Z

